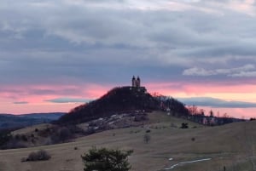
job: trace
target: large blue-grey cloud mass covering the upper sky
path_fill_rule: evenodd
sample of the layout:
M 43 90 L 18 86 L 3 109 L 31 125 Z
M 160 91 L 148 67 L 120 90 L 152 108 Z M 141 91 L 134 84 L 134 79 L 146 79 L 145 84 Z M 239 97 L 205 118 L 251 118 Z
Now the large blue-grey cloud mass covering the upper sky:
M 255 7 L 236 1 L 251 8 L 238 11 L 232 3 L 1 2 L 1 83 L 124 83 L 140 73 L 178 81 L 254 65 Z M 223 76 L 255 73 L 252 69 Z

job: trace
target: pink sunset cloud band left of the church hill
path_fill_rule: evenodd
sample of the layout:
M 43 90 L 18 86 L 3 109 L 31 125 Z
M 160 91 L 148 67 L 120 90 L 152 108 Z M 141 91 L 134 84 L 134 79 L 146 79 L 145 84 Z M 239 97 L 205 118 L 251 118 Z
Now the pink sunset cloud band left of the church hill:
M 61 97 L 96 99 L 105 94 L 108 89 L 108 87 L 93 83 L 81 85 L 2 86 L 0 88 L 0 113 L 67 112 L 82 103 L 56 104 L 46 100 Z M 23 103 L 19 103 L 21 101 Z

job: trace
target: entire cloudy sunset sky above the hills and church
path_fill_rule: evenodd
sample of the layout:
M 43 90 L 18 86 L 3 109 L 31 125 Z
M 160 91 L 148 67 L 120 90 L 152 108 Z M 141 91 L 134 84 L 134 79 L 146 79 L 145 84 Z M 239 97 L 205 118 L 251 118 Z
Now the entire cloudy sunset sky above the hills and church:
M 253 0 L 0 0 L 0 113 L 148 92 L 256 117 Z

